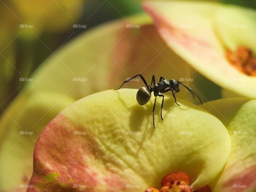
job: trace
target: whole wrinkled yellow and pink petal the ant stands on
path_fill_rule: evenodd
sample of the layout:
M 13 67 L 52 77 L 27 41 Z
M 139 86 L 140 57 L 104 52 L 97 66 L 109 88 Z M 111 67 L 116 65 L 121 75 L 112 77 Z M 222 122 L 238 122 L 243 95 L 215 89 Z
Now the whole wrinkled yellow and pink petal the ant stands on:
M 223 124 L 201 107 L 165 97 L 164 121 L 158 99 L 153 129 L 154 97 L 140 106 L 136 92 L 103 91 L 61 111 L 36 143 L 28 192 L 143 191 L 160 188 L 170 171 L 188 174 L 195 187 L 215 178 L 230 152 Z

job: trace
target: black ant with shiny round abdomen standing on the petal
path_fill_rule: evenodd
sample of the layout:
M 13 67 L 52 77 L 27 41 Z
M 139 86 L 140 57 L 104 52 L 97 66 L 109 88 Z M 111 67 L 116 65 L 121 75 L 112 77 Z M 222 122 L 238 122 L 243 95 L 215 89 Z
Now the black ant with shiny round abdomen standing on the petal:
M 194 98 L 195 92 L 192 91 L 192 89 L 190 89 L 188 86 L 184 85 L 183 83 L 176 81 L 174 79 L 171 79 L 170 81 L 167 81 L 165 78 L 163 78 L 162 76 L 159 79 L 159 82 L 157 84 L 155 84 L 155 76 L 152 76 L 152 80 L 151 80 L 151 85 L 148 85 L 146 80 L 143 78 L 143 76 L 141 74 L 135 75 L 132 78 L 128 78 L 128 80 L 124 81 L 124 83 L 128 82 L 128 81 L 132 81 L 132 79 L 134 79 L 135 77 L 140 76 L 142 81 L 144 82 L 144 84 L 146 85 L 146 87 L 141 87 L 138 92 L 137 92 L 137 96 L 136 96 L 136 100 L 139 103 L 139 105 L 145 105 L 147 102 L 149 102 L 150 98 L 151 98 L 151 92 L 154 91 L 154 96 L 155 96 L 155 102 L 157 100 L 157 96 L 159 97 L 163 97 L 164 99 L 164 95 L 160 95 L 160 93 L 166 93 L 167 91 L 171 91 L 173 94 L 173 97 L 175 99 L 175 103 L 180 106 L 177 102 L 176 102 L 176 97 L 175 97 L 175 93 L 179 92 L 179 84 L 183 85 L 184 87 L 186 87 L 187 90 L 189 90 L 189 92 L 191 93 L 191 95 Z M 152 83 L 153 83 L 153 87 L 152 87 Z M 120 89 L 123 84 L 118 88 Z M 167 89 L 169 88 L 169 89 Z M 118 90 L 118 89 L 114 89 L 114 90 Z M 199 99 L 201 105 L 202 105 L 202 101 L 201 99 L 198 97 L 197 94 L 195 94 L 195 96 L 197 96 L 197 98 Z M 162 99 L 162 104 L 161 104 L 161 119 L 162 118 L 162 109 L 163 109 L 163 99 Z M 153 107 L 153 126 L 155 128 L 155 117 L 154 117 L 154 110 L 155 110 L 155 102 L 154 102 L 154 107 Z

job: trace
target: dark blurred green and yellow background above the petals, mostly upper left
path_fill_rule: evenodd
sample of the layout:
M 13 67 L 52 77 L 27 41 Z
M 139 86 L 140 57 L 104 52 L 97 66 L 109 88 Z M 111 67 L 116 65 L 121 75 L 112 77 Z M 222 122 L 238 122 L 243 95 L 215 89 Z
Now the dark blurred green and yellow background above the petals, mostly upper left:
M 101 23 L 142 13 L 141 0 L 4 1 L 0 2 L 0 113 L 25 81 L 61 46 Z M 214 1 L 209 1 L 214 2 Z M 218 1 L 216 1 L 218 2 Z M 223 3 L 256 7 L 253 0 Z M 86 28 L 73 28 L 74 24 Z M 20 25 L 33 25 L 22 28 Z

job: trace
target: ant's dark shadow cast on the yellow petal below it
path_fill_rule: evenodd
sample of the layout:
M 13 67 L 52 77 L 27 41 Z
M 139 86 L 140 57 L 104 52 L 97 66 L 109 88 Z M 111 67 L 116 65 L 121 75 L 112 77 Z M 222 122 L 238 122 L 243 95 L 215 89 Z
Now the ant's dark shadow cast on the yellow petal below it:
M 156 129 L 161 129 L 161 124 L 163 123 L 160 117 L 162 97 L 157 97 L 157 101 L 159 102 L 157 102 L 155 105 L 155 111 L 154 111 L 155 125 L 156 125 L 155 129 L 153 128 L 153 111 L 152 111 L 154 100 L 150 100 L 144 106 L 139 105 L 137 102 L 133 106 L 127 106 L 126 101 L 120 97 L 119 93 L 118 93 L 118 99 L 119 101 L 122 102 L 122 104 L 126 107 L 126 109 L 131 111 L 131 114 L 129 117 L 130 130 L 142 132 L 142 128 L 143 128 L 142 139 L 139 140 L 140 142 L 138 143 L 138 150 L 136 153 L 136 156 L 138 156 L 139 151 L 141 150 L 145 139 L 146 138 L 150 139 L 153 136 Z M 134 97 L 134 99 L 136 98 Z M 167 106 L 169 107 L 169 109 L 164 111 L 164 109 L 166 109 Z M 164 99 L 164 105 L 163 105 L 163 111 L 162 111 L 163 119 L 170 118 L 170 115 L 168 114 L 171 112 L 171 110 L 173 110 L 174 107 L 179 107 L 179 106 L 176 105 L 173 97 L 171 96 L 169 97 L 169 95 L 166 95 Z M 181 109 L 186 110 L 184 108 L 181 108 Z M 146 119 L 146 122 L 145 122 L 145 119 Z

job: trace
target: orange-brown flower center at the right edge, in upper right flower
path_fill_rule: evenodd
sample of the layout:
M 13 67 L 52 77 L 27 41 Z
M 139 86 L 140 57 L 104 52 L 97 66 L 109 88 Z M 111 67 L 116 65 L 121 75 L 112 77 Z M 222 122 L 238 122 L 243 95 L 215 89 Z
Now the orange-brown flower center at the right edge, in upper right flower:
M 227 49 L 226 58 L 239 71 L 256 76 L 256 58 L 253 57 L 251 49 L 245 46 L 239 46 L 235 52 Z

